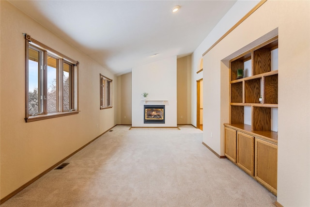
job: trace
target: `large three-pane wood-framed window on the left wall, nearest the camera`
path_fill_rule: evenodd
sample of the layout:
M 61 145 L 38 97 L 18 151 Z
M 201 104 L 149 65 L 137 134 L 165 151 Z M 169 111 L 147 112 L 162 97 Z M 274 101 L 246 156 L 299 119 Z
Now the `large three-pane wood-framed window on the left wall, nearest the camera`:
M 78 113 L 78 62 L 26 39 L 26 122 Z

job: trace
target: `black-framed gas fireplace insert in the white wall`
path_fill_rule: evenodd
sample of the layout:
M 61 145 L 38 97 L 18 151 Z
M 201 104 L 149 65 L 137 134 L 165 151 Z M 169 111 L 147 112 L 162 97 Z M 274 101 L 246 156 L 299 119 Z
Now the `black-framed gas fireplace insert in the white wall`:
M 144 105 L 144 124 L 165 124 L 165 105 Z

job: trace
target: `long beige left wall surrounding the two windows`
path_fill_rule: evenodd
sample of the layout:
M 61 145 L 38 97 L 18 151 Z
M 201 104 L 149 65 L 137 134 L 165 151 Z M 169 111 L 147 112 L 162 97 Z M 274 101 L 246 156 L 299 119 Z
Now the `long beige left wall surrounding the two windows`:
M 58 36 L 0 1 L 1 198 L 116 125 L 116 106 L 99 109 L 99 74 L 117 79 Z M 76 115 L 25 123 L 25 38 L 22 33 L 79 61 Z M 113 103 L 117 103 L 113 95 Z M 97 127 L 98 125 L 98 127 Z

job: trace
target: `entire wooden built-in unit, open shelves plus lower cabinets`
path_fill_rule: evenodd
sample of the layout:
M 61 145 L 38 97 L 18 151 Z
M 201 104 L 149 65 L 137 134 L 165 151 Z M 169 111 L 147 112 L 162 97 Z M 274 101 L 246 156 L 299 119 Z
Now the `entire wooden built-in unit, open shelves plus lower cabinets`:
M 272 52 L 277 48 L 278 36 L 230 61 L 230 123 L 224 124 L 225 156 L 275 195 L 279 71 Z M 237 79 L 238 69 L 245 77 Z

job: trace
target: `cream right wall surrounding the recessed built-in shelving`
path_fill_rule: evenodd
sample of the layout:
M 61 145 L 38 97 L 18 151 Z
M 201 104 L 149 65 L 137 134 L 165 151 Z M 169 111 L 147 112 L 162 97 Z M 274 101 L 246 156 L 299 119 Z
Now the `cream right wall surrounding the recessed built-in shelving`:
M 207 98 L 203 121 L 207 127 L 203 142 L 224 155 L 223 124 L 229 122 L 228 60 L 277 34 L 277 201 L 283 206 L 310 206 L 310 1 L 266 1 L 204 55 L 203 97 Z

